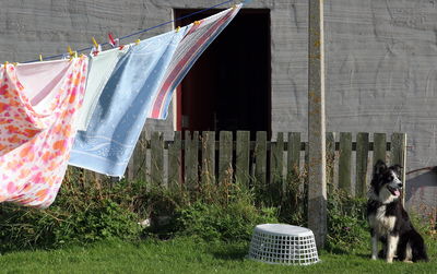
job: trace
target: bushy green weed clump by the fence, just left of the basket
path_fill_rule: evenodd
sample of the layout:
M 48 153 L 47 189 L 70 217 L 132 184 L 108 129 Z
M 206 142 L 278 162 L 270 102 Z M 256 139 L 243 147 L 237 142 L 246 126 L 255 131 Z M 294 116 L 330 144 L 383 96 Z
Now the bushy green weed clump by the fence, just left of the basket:
M 277 223 L 276 209 L 257 207 L 252 191 L 239 183 L 210 184 L 204 190 L 201 199 L 177 210 L 177 235 L 208 241 L 250 240 L 256 225 Z

